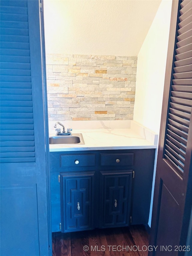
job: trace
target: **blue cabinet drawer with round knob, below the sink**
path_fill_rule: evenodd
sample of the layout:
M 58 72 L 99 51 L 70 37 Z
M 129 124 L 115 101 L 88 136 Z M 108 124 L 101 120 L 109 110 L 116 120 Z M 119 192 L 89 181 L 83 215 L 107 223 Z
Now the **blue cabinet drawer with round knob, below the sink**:
M 61 167 L 95 166 L 95 154 L 60 155 Z

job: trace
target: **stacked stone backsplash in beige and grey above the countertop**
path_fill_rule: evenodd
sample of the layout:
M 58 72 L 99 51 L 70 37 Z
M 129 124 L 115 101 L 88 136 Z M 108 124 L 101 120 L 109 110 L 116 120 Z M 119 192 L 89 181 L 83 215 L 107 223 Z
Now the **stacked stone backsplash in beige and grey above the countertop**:
M 137 57 L 47 54 L 49 120 L 132 120 Z

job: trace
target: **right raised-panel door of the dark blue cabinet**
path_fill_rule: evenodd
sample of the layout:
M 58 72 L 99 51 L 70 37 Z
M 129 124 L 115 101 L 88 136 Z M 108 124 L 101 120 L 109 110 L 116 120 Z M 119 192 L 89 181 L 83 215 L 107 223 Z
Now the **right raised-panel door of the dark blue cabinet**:
M 100 227 L 129 225 L 132 170 L 100 173 Z

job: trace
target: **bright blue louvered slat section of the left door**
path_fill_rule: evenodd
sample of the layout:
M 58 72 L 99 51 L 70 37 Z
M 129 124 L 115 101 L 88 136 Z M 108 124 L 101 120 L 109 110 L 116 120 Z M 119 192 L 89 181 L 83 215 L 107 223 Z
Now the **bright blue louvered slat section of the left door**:
M 0 11 L 1 162 L 35 162 L 27 1 L 1 0 Z

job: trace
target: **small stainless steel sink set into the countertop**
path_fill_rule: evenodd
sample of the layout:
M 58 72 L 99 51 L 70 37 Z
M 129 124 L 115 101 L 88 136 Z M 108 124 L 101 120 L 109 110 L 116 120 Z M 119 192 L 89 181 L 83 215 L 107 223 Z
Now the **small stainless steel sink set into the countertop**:
M 69 136 L 53 136 L 49 137 L 49 144 L 81 144 L 84 145 L 83 136 L 81 133 L 73 133 Z

